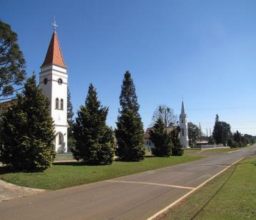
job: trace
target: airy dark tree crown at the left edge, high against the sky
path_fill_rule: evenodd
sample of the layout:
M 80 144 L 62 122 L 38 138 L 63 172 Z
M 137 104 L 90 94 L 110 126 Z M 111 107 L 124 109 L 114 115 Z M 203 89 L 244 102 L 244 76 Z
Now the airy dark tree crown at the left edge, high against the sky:
M 19 90 L 26 76 L 26 61 L 19 49 L 17 34 L 8 23 L 0 19 L 0 98 L 13 95 Z

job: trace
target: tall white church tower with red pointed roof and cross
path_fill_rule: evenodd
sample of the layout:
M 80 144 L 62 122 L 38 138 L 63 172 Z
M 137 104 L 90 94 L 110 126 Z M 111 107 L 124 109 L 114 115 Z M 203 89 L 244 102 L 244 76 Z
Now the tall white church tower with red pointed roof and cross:
M 54 33 L 41 65 L 40 88 L 50 102 L 50 113 L 54 120 L 56 152 L 67 152 L 67 66 L 64 62 L 54 21 Z

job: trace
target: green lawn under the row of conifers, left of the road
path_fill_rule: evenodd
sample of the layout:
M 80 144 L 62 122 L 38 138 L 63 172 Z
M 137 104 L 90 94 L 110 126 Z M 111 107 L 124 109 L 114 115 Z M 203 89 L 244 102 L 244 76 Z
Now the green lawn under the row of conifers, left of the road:
M 77 162 L 66 162 L 54 164 L 45 172 L 34 173 L 10 172 L 6 167 L 0 167 L 0 179 L 19 186 L 54 190 L 122 177 L 202 158 L 204 157 L 191 155 L 148 157 L 141 162 L 114 162 L 105 166 L 87 166 Z

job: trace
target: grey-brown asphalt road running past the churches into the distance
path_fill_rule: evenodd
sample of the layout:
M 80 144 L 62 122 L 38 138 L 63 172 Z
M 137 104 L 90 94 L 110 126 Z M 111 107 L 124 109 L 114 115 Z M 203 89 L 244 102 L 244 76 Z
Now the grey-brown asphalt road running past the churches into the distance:
M 0 203 L 0 219 L 147 219 L 256 147 Z

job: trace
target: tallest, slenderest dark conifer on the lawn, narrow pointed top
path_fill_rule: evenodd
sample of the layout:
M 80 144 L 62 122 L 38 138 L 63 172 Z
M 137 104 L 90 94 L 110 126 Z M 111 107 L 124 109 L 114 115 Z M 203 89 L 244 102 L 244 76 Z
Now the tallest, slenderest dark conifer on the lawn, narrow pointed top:
M 124 74 L 119 97 L 122 110 L 117 117 L 117 156 L 123 161 L 139 161 L 145 157 L 144 130 L 131 74 Z

